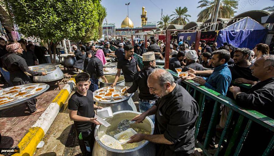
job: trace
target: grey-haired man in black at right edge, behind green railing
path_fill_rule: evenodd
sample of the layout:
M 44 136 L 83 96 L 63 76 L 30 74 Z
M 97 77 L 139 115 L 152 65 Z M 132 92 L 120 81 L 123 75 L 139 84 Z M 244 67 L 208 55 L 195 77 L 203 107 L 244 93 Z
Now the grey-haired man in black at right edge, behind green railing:
M 243 93 L 237 86 L 231 86 L 229 90 L 241 107 L 257 110 L 274 119 L 274 55 L 262 55 L 250 69 L 252 75 L 260 81 L 247 93 Z M 262 155 L 272 137 L 272 131 L 254 122 L 241 150 L 242 155 Z M 269 155 L 274 155 L 274 150 Z

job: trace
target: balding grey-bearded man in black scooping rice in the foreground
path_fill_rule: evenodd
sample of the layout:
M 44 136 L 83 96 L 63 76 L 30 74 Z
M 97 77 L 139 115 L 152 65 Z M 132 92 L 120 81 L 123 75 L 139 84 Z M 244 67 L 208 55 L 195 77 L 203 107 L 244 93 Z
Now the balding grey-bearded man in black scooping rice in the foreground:
M 146 112 L 134 117 L 140 123 L 146 116 L 155 114 L 154 134 L 135 134 L 128 143 L 142 140 L 157 144 L 158 156 L 186 156 L 194 152 L 195 121 L 198 104 L 173 76 L 163 69 L 155 69 L 148 77 L 147 85 L 151 94 L 160 99 Z

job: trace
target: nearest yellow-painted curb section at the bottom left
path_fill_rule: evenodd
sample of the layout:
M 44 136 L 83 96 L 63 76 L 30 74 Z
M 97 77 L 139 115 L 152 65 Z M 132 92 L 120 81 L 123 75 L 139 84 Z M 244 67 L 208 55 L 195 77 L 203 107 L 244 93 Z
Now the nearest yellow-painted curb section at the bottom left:
M 18 147 L 20 148 L 20 153 L 14 154 L 15 156 L 30 156 L 33 155 L 37 144 L 44 137 L 44 131 L 40 127 L 30 127 L 27 134 L 19 142 Z

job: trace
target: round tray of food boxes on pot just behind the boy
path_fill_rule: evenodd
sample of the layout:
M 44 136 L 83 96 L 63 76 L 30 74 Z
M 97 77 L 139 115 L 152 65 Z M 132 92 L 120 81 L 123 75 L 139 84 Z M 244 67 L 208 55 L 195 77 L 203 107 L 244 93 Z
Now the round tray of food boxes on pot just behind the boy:
M 128 89 L 129 87 L 127 86 L 114 86 L 114 87 L 103 87 L 98 90 L 95 90 L 93 92 L 93 100 L 98 103 L 117 103 L 117 102 L 122 102 L 134 95 L 132 94 L 124 94 L 122 90 Z

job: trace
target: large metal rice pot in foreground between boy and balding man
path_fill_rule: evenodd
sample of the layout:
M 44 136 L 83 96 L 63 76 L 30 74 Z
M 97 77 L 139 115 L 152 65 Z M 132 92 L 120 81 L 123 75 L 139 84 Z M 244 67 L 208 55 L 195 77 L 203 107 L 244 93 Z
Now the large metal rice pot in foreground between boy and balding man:
M 144 144 L 136 148 L 127 149 L 127 150 L 117 150 L 117 149 L 109 148 L 100 141 L 100 137 L 106 134 L 107 131 L 113 131 L 117 129 L 117 126 L 121 122 L 121 120 L 124 120 L 124 119 L 131 120 L 133 117 L 135 117 L 138 114 L 141 114 L 141 113 L 128 111 L 128 110 L 119 111 L 114 113 L 113 117 L 105 119 L 108 123 L 111 124 L 111 126 L 105 127 L 102 125 L 97 125 L 94 131 L 94 137 L 96 142 L 94 143 L 94 146 L 93 146 L 92 155 L 93 156 L 135 156 L 135 155 L 155 156 L 155 153 L 156 153 L 155 144 L 149 141 L 145 141 Z M 149 117 L 146 117 L 143 123 L 134 124 L 134 127 L 138 127 L 146 131 L 149 131 L 150 134 L 153 134 L 153 131 L 154 131 L 154 124 L 152 120 L 149 119 Z

